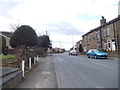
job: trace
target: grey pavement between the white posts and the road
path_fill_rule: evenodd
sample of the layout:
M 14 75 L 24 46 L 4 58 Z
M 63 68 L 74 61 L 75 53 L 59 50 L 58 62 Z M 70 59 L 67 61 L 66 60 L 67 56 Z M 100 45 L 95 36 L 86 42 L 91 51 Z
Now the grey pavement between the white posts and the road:
M 16 88 L 57 88 L 52 56 L 39 58 L 38 64 Z

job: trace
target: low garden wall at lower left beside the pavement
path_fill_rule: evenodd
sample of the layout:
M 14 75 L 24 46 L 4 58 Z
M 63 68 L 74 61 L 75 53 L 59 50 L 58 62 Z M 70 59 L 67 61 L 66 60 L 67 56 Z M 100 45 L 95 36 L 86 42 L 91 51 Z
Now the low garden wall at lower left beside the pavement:
M 37 60 L 35 61 L 36 63 L 32 65 L 31 69 L 37 66 Z M 3 67 L 2 67 L 3 68 Z M 2 83 L 0 85 L 0 89 L 5 89 L 5 88 L 15 88 L 22 80 L 23 78 L 23 73 L 22 70 L 19 68 L 13 68 L 13 70 L 10 70 L 11 68 L 4 68 L 1 69 L 7 72 L 3 72 L 2 75 L 0 76 L 2 78 Z M 27 71 L 25 70 L 25 75 L 28 74 L 31 70 L 28 69 Z

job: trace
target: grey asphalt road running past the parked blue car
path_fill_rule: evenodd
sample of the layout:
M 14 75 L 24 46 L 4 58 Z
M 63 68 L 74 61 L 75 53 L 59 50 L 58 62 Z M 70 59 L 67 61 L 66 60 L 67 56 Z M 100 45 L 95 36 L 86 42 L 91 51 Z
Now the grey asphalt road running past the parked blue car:
M 118 60 L 54 54 L 58 88 L 118 88 Z

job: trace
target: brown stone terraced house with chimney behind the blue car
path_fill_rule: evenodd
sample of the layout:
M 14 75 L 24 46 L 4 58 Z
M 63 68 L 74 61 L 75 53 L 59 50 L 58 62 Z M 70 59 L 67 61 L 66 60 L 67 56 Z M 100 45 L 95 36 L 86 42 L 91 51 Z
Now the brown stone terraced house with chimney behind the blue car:
M 104 49 L 106 51 L 115 52 L 119 50 L 120 43 L 120 16 L 106 22 L 102 16 L 100 26 L 89 31 L 82 36 L 83 52 L 89 49 Z

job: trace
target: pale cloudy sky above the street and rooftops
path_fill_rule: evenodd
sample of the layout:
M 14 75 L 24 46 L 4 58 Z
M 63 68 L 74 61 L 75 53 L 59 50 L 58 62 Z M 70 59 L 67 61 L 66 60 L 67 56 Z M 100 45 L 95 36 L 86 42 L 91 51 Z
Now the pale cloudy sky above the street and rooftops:
M 82 35 L 118 16 L 119 0 L 0 0 L 0 31 L 29 25 L 50 37 L 53 47 L 70 49 Z

